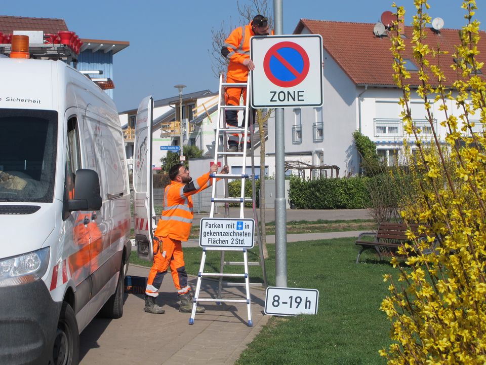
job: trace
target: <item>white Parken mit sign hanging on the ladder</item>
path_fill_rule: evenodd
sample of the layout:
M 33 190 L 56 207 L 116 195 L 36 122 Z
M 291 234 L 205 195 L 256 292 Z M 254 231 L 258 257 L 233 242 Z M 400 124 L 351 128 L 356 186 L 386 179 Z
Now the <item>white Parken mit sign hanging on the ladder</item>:
M 200 247 L 252 248 L 255 221 L 248 218 L 202 218 Z

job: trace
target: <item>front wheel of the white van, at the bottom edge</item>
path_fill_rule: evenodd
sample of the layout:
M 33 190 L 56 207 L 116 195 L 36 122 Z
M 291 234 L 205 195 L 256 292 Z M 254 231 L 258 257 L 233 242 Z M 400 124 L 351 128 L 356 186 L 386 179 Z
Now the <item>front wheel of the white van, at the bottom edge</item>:
M 71 306 L 63 302 L 57 322 L 56 337 L 50 365 L 77 365 L 79 358 L 79 331 Z

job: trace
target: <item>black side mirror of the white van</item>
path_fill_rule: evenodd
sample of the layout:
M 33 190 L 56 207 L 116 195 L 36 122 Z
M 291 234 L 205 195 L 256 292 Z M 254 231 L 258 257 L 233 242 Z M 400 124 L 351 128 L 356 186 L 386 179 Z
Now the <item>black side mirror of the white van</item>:
M 94 170 L 79 169 L 74 181 L 74 199 L 67 201 L 67 210 L 100 210 L 100 178 Z

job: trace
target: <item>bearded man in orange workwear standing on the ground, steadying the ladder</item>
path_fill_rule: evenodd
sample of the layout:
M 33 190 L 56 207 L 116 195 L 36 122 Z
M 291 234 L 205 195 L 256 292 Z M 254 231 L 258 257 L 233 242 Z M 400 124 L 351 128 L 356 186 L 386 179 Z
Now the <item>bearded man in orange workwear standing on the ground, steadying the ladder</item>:
M 145 288 L 145 312 L 154 314 L 165 312 L 155 303 L 155 298 L 158 296 L 158 289 L 169 266 L 181 301 L 179 311 L 192 311 L 191 288 L 187 284 L 181 241 L 187 241 L 191 231 L 194 216 L 191 195 L 209 188 L 212 184 L 210 174 L 217 171 L 218 165 L 213 164 L 208 173 L 192 181 L 189 171 L 184 166 L 176 165 L 170 169 L 171 184 L 164 191 L 164 207 L 154 233 L 153 265 Z M 228 171 L 228 166 L 224 166 L 220 173 L 228 173 Z M 197 307 L 197 313 L 204 311 L 204 307 Z

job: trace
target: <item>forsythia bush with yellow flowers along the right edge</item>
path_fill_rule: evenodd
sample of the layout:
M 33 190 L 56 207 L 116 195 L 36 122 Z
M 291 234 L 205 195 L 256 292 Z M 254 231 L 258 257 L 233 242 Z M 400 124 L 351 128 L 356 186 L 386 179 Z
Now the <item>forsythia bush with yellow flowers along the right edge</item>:
M 404 10 L 396 8 L 397 22 Z M 395 29 L 391 51 L 396 84 L 402 89 L 404 130 L 415 137 L 416 162 L 411 165 L 417 195 L 404 199 L 401 216 L 406 223 L 420 223 L 422 236 L 409 231 L 410 244 L 398 251 L 408 266 L 398 267 L 390 282 L 390 296 L 381 310 L 392 322 L 393 343 L 380 351 L 388 364 L 484 364 L 486 363 L 486 133 L 474 133 L 472 120 L 486 129 L 486 83 L 479 71 L 479 22 L 474 19 L 474 0 L 464 1 L 467 25 L 454 55 L 445 55 L 425 41 L 431 18 L 427 0 L 415 0 L 413 54 L 419 66 L 420 85 L 432 137 L 425 141 L 414 125 L 410 108 L 409 72 L 402 58 L 406 40 Z M 428 25 L 427 25 L 428 24 Z M 410 40 L 407 40 L 409 42 Z M 452 66 L 452 57 L 456 60 Z M 435 58 L 438 62 L 429 63 Z M 446 83 L 441 67 L 453 67 L 457 80 Z M 448 81 L 452 84 L 452 80 Z M 454 99 L 459 117 L 448 109 Z M 434 128 L 430 105 L 440 104 L 442 141 Z M 476 130 L 476 129 L 474 129 Z M 427 143 L 426 143 L 427 142 Z

